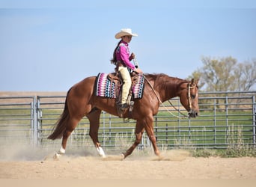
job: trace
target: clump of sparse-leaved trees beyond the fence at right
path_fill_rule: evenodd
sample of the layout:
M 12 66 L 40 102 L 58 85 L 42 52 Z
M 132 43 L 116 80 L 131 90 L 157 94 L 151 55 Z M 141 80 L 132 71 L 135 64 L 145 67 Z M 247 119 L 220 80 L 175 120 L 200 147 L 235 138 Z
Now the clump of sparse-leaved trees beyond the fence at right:
M 256 59 L 237 63 L 232 57 L 203 57 L 203 67 L 189 76 L 200 79 L 201 91 L 249 91 L 256 85 Z

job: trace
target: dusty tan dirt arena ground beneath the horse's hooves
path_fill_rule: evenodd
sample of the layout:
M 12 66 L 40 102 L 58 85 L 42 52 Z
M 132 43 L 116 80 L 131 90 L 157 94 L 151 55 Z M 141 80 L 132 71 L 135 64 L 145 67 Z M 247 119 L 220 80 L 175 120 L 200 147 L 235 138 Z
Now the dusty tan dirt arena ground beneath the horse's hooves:
M 22 154 L 0 158 L 0 179 L 256 179 L 256 158 L 250 157 L 194 158 L 168 150 L 162 159 L 135 153 L 121 160 L 118 154 L 101 159 L 75 151 L 55 161 L 53 153 L 40 152 L 34 159 Z

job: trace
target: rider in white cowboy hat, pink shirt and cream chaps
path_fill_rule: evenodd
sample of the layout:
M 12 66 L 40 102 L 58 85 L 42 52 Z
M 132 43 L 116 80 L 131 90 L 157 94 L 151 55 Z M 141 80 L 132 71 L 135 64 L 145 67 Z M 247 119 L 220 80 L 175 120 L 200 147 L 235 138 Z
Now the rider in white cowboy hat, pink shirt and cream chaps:
M 121 39 L 116 46 L 113 58 L 111 60 L 112 64 L 116 64 L 118 72 L 121 74 L 123 79 L 123 91 L 121 96 L 121 110 L 128 108 L 127 98 L 129 94 L 129 88 L 132 85 L 131 77 L 129 73 L 135 71 L 136 73 L 142 73 L 142 71 L 135 67 L 130 61 L 135 58 L 135 55 L 132 53 L 129 55 L 128 43 L 132 40 L 132 37 L 137 37 L 138 34 L 132 33 L 130 28 L 123 28 L 120 32 L 115 34 L 116 39 Z

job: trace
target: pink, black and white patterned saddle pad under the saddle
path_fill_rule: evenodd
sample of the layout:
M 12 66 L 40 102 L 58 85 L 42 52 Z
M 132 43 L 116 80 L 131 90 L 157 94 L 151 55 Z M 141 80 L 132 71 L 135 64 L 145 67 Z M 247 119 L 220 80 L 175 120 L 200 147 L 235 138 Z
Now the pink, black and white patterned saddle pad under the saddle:
M 96 96 L 105 96 L 109 98 L 116 98 L 118 90 L 109 76 L 108 73 L 99 73 L 95 82 L 95 95 Z M 134 86 L 132 86 L 132 98 L 141 99 L 143 96 L 144 90 L 144 76 L 138 75 L 138 80 Z

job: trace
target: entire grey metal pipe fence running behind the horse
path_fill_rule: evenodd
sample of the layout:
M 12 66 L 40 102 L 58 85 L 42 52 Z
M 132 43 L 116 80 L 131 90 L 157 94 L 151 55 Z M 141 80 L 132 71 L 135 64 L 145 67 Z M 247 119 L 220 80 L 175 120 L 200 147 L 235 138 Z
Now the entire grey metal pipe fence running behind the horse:
M 227 148 L 255 146 L 256 91 L 199 93 L 200 116 L 183 119 L 178 111 L 165 102 L 154 117 L 154 131 L 159 147 Z M 64 108 L 65 96 L 0 97 L 0 143 L 14 139 L 38 147 L 60 147 L 61 140 L 49 141 Z M 186 113 L 179 99 L 171 99 L 175 108 Z M 166 111 L 168 108 L 171 114 Z M 135 121 L 103 111 L 100 118 L 99 140 L 103 147 L 129 147 L 135 140 Z M 84 117 L 69 138 L 68 146 L 94 147 L 89 122 Z M 150 146 L 145 135 L 138 148 Z

